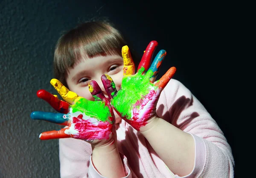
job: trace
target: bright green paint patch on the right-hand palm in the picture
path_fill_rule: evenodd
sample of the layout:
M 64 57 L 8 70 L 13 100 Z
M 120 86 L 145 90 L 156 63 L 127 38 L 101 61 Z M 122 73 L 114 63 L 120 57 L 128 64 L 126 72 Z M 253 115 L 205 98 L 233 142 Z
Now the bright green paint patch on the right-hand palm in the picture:
M 140 68 L 135 75 L 125 76 L 122 79 L 122 88 L 117 92 L 112 99 L 111 104 L 118 110 L 123 117 L 131 119 L 131 111 L 134 109 L 134 104 L 149 93 L 151 89 L 157 90 L 157 87 L 150 82 L 150 76 L 153 71 L 145 76 L 141 75 L 145 68 Z M 140 106 L 136 106 L 137 109 Z

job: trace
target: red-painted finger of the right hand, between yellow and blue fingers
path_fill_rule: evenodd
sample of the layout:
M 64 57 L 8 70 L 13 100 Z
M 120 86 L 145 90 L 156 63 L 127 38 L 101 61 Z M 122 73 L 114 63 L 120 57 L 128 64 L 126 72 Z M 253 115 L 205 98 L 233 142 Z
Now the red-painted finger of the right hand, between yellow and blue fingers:
M 140 64 L 139 64 L 139 67 L 138 67 L 138 73 L 144 73 L 145 71 L 148 70 L 150 64 L 151 64 L 151 60 L 152 60 L 152 57 L 153 57 L 153 54 L 154 54 L 154 51 L 156 50 L 157 48 L 157 41 L 151 41 L 146 50 L 144 51 L 144 54 L 143 54 L 143 57 L 140 61 Z

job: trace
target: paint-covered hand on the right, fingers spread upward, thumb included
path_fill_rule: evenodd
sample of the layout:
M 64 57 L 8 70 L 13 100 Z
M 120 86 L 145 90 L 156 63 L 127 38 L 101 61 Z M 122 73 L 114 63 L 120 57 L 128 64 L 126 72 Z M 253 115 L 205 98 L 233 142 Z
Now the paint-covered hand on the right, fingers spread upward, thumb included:
M 102 76 L 102 83 L 111 99 L 111 105 L 122 119 L 139 131 L 140 127 L 148 124 L 156 116 L 156 105 L 160 93 L 176 71 L 176 68 L 172 67 L 155 81 L 160 65 L 166 56 L 166 51 L 160 50 L 151 64 L 157 45 L 156 41 L 149 43 L 136 74 L 134 74 L 134 62 L 128 46 L 122 48 L 124 77 L 119 91 L 116 90 L 110 76 Z

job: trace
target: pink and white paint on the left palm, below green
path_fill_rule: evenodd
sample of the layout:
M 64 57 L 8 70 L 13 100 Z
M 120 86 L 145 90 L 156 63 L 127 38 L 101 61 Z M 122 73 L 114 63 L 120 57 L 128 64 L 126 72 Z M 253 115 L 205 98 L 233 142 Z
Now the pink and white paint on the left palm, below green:
M 73 117 L 73 123 L 76 123 L 75 129 L 79 132 L 79 135 L 73 136 L 74 138 L 93 141 L 95 139 L 108 139 L 112 133 L 111 123 L 103 121 L 92 123 L 90 119 L 84 120 L 82 114 Z

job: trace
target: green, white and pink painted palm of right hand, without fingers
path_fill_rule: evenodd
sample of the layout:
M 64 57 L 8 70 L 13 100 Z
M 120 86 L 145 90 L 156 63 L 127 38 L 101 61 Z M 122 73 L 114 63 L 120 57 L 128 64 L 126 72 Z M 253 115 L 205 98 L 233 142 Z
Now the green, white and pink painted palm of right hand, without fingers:
M 144 70 L 142 67 L 135 75 L 125 76 L 121 89 L 111 101 L 121 117 L 137 130 L 154 116 L 160 95 L 159 88 L 150 82 L 153 71 L 141 75 Z

